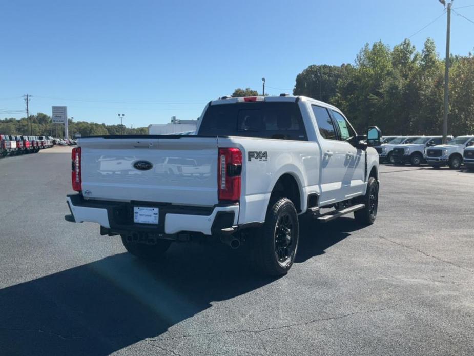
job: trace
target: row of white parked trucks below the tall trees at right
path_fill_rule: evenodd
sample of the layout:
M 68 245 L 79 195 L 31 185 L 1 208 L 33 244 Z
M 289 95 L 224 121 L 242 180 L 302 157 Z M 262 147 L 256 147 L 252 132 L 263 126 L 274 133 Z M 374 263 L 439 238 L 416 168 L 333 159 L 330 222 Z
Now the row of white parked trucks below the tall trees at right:
M 449 166 L 459 169 L 463 164 L 474 169 L 474 135 L 452 137 L 442 144 L 442 136 L 386 136 L 375 147 L 380 163 L 394 165 L 427 163 L 431 167 Z

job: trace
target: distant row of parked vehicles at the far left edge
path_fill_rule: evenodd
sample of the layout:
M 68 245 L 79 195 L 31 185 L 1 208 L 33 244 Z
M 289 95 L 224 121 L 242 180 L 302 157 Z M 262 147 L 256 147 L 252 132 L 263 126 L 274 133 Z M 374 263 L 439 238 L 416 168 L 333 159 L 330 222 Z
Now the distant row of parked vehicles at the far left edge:
M 74 140 L 54 139 L 51 136 L 0 135 L 0 157 L 36 153 L 54 145 L 75 145 Z

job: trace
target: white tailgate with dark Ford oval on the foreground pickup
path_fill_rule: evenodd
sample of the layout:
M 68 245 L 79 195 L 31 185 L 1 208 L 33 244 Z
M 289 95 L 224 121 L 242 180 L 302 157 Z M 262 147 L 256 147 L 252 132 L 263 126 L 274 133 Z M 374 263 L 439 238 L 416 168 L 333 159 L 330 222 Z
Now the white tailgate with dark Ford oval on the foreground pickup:
M 217 204 L 217 137 L 158 137 L 79 139 L 84 197 Z

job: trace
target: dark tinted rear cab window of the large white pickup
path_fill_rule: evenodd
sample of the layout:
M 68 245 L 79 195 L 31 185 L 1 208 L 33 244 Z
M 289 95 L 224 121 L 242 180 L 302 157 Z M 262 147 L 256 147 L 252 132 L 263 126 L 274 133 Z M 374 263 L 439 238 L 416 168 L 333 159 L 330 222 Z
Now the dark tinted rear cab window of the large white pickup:
M 211 105 L 198 134 L 307 141 L 301 112 L 294 102 Z

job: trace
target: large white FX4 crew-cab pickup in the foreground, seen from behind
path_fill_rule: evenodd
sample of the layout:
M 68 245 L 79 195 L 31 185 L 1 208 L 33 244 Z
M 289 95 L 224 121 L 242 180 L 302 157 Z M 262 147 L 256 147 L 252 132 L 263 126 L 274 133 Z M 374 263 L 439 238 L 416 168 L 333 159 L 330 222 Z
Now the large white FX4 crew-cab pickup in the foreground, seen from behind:
M 379 145 L 381 132 L 357 135 L 334 106 L 303 96 L 224 97 L 204 108 L 196 132 L 79 139 L 79 193 L 67 196 L 66 220 L 98 223 L 147 260 L 173 241 L 247 244 L 261 272 L 282 275 L 297 251 L 299 215 L 376 219 L 379 156 L 367 146 Z M 169 157 L 171 173 L 162 167 Z M 114 161 L 120 169 L 110 169 Z

